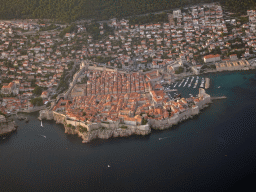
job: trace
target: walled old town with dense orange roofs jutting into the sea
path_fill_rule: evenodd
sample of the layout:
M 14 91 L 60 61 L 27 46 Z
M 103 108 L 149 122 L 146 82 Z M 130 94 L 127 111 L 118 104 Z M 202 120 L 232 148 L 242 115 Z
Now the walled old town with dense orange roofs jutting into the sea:
M 87 79 L 86 83 L 83 82 Z M 158 70 L 125 73 L 81 63 L 67 92 L 40 119 L 54 119 L 65 133 L 78 134 L 87 143 L 132 134 L 147 135 L 191 118 L 211 102 L 203 88 L 197 97 L 170 99 L 159 83 Z

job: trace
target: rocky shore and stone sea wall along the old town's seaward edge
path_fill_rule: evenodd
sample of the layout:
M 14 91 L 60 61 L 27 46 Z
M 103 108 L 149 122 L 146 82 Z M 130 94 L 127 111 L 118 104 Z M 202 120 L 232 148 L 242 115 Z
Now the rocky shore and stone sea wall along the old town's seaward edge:
M 212 103 L 211 97 L 205 94 L 205 98 L 196 106 L 172 117 L 163 120 L 149 119 L 146 125 L 128 125 L 120 122 L 113 123 L 85 123 L 68 119 L 66 115 L 55 111 L 40 111 L 38 119 L 54 120 L 56 124 L 63 124 L 65 133 L 78 135 L 82 138 L 82 143 L 89 143 L 93 139 L 109 139 L 111 137 L 129 137 L 131 135 L 148 135 L 151 130 L 170 129 L 174 125 L 193 119 L 199 115 L 200 111 Z

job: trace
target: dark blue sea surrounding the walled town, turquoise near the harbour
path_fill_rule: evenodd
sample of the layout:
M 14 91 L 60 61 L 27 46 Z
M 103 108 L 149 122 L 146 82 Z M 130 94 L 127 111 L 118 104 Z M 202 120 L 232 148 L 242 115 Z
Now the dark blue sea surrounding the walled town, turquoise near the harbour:
M 0 191 L 234 191 L 256 179 L 256 71 L 205 74 L 200 115 L 147 136 L 83 144 L 61 124 L 24 114 L 0 137 Z M 198 88 L 180 87 L 182 96 Z M 160 139 L 159 139 L 160 138 Z

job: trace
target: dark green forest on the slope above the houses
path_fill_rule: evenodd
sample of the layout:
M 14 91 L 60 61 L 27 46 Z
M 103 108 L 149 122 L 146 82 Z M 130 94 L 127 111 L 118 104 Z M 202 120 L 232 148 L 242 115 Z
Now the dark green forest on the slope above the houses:
M 107 20 L 216 0 L 2 0 L 0 19 Z M 255 0 L 221 0 L 231 11 L 255 8 Z

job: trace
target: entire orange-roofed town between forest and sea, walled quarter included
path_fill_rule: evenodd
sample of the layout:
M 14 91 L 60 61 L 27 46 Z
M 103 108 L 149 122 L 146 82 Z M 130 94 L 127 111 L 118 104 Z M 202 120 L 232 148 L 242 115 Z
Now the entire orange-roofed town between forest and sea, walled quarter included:
M 202 3 L 119 18 L 1 21 L 0 111 L 44 109 L 40 118 L 55 118 L 84 142 L 112 128 L 119 132 L 108 135 L 148 134 L 211 100 L 202 89 L 172 98 L 165 86 L 193 76 L 183 87 L 207 89 L 209 79 L 200 85 L 194 77 L 255 69 L 255 7 L 234 14 Z

